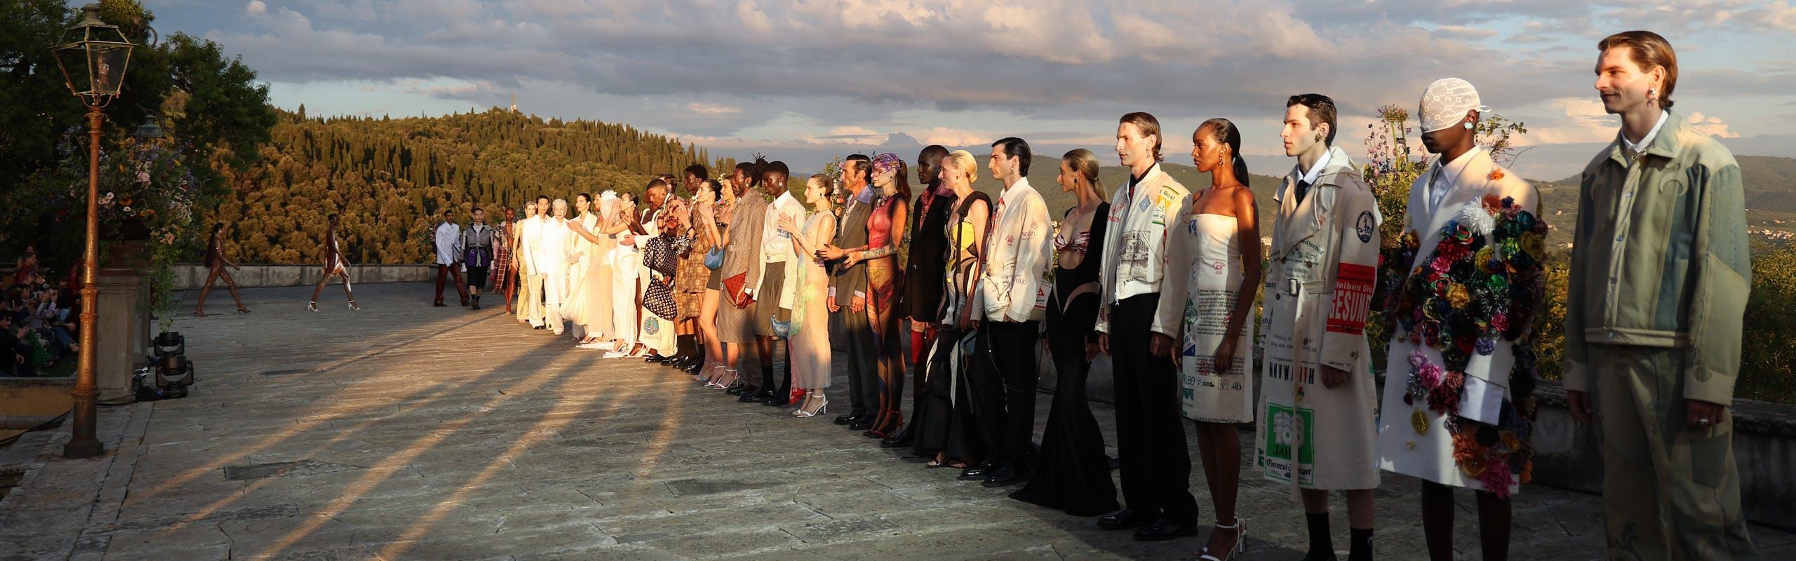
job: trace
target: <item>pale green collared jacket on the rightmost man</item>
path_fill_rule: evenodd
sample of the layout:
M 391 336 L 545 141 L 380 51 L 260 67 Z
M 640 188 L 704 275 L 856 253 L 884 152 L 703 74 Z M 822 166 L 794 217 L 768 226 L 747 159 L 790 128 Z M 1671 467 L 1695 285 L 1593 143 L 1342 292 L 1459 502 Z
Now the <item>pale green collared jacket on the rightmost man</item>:
M 1667 372 L 1685 378 L 1683 397 L 1728 405 L 1753 288 L 1740 165 L 1683 115 L 1665 119 L 1633 165 L 1616 135 L 1584 167 L 1564 385 L 1589 390 L 1586 345 L 1685 349 L 1685 370 Z

